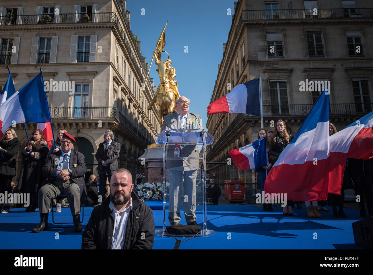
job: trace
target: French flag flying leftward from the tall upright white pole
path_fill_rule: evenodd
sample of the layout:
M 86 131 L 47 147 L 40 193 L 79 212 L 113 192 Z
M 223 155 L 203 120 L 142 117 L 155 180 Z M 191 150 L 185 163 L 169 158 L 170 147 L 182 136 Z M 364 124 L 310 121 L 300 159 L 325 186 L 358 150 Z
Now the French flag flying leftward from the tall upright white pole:
M 240 113 L 260 116 L 260 79 L 235 86 L 207 107 L 207 114 Z

